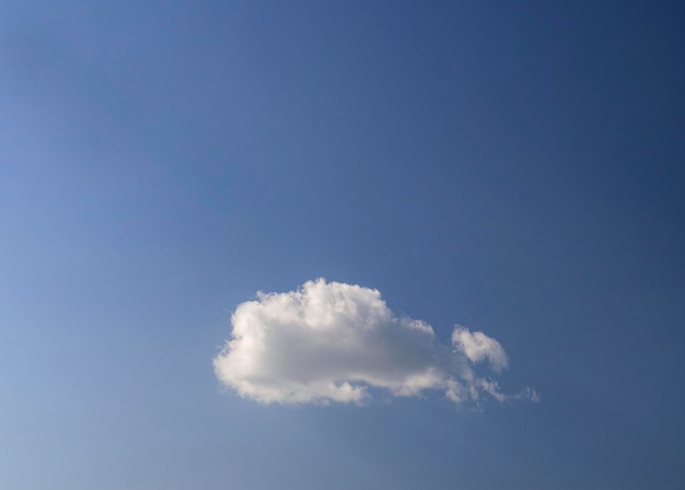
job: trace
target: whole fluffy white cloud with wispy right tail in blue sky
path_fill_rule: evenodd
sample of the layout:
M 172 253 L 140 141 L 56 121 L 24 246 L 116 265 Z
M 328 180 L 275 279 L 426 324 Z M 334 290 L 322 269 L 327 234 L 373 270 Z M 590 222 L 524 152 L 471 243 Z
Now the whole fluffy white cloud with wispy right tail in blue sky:
M 527 389 L 504 395 L 475 363 L 507 368 L 500 343 L 456 326 L 443 345 L 425 322 L 397 317 L 378 290 L 324 279 L 297 291 L 258 293 L 232 316 L 231 339 L 214 371 L 242 397 L 264 404 L 363 402 L 372 392 L 420 396 L 441 390 L 454 402 L 536 400 Z

